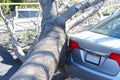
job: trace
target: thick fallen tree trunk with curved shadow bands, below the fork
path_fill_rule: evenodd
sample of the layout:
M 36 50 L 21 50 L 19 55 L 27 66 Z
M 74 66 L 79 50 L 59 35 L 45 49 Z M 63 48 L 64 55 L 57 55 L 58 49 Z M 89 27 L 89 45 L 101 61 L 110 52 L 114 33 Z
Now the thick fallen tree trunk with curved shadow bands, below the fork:
M 65 45 L 66 35 L 63 28 L 52 24 L 46 25 L 41 35 L 40 42 L 34 47 L 30 57 L 10 80 L 51 80 Z

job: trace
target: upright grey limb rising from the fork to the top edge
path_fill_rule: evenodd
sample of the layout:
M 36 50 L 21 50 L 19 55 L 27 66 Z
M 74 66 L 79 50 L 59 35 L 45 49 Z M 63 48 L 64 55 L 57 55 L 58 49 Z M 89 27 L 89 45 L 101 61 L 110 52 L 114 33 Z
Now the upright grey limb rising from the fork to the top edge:
M 52 7 L 55 3 L 54 0 L 39 0 L 42 7 L 42 23 L 41 26 L 44 26 L 49 20 L 51 20 L 54 16 L 56 16 L 57 10 Z

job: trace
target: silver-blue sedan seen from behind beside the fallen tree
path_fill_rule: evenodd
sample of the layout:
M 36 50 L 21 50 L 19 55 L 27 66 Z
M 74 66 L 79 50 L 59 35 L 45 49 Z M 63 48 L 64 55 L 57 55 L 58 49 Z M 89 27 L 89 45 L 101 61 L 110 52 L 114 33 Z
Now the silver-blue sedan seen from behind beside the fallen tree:
M 120 80 L 120 12 L 70 36 L 66 71 L 82 80 Z

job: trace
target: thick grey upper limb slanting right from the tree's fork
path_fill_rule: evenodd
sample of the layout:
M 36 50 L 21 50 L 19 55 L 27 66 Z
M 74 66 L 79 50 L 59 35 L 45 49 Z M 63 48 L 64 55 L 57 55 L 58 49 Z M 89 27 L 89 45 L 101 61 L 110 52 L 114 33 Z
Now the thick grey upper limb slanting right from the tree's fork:
M 91 2 L 85 1 L 85 2 L 79 2 L 70 7 L 66 12 L 61 14 L 56 18 L 56 23 L 58 24 L 64 24 L 68 19 L 70 19 L 77 11 L 86 9 L 88 7 L 91 7 L 93 5 L 98 4 L 99 2 L 102 2 L 104 0 L 92 0 Z

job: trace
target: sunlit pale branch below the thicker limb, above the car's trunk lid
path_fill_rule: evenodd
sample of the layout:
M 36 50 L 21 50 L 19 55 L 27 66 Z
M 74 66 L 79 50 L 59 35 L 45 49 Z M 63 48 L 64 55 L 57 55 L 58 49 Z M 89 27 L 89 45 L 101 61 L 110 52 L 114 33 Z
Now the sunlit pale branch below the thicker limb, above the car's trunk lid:
M 68 21 L 68 23 L 66 24 L 66 27 L 68 27 L 67 32 L 73 27 L 77 26 L 80 22 L 84 21 L 86 18 L 92 16 L 95 12 L 97 12 L 101 8 L 102 5 L 103 5 L 103 2 L 93 6 L 89 11 L 84 12 L 83 14 L 74 18 L 73 20 Z

